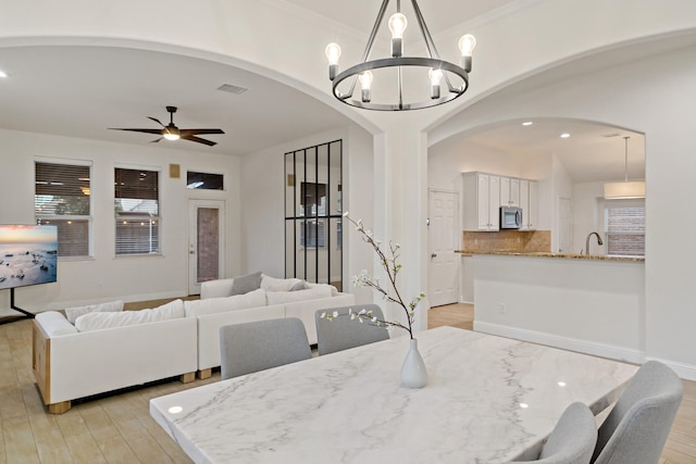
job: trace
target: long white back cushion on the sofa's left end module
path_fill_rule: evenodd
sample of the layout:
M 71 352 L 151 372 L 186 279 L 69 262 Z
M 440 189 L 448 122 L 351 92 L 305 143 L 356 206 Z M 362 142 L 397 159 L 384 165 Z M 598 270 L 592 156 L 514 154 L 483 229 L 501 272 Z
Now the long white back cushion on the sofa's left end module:
M 174 300 L 152 310 L 123 311 L 120 313 L 88 313 L 77 317 L 79 331 L 101 330 L 184 317 L 184 302 Z

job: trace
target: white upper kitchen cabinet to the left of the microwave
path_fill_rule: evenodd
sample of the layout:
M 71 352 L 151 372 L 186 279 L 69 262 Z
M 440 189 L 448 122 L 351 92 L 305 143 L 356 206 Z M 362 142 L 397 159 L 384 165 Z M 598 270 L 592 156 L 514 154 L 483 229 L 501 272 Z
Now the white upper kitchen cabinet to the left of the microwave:
M 500 177 L 485 173 L 462 174 L 464 230 L 500 229 Z

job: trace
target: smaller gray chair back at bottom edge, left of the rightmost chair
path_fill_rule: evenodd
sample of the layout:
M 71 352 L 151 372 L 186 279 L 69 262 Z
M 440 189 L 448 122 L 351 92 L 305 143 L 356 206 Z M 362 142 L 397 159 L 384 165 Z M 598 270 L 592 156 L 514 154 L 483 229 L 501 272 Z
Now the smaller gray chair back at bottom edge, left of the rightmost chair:
M 585 404 L 576 402 L 566 409 L 548 436 L 538 464 L 589 464 L 597 442 L 595 416 Z

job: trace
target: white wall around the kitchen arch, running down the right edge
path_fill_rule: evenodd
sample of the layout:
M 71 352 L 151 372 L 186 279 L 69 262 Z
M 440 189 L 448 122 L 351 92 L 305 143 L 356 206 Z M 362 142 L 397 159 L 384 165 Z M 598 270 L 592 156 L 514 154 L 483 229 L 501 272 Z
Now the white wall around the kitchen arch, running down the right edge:
M 645 355 L 689 378 L 696 378 L 696 351 L 689 348 L 696 311 L 693 278 L 684 269 L 696 259 L 696 241 L 675 239 L 675 230 L 696 228 L 696 218 L 681 214 L 682 202 L 675 199 L 696 195 L 694 78 L 696 48 L 683 48 L 543 88 L 512 86 L 469 108 L 465 117 L 447 122 L 467 130 L 512 118 L 571 117 L 645 134 Z

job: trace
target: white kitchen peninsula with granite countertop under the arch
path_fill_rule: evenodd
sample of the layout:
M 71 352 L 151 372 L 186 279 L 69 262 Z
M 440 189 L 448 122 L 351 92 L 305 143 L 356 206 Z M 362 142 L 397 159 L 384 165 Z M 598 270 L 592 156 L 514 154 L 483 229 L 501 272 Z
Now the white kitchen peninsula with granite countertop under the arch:
M 643 361 L 644 259 L 519 251 L 471 254 L 474 330 Z

